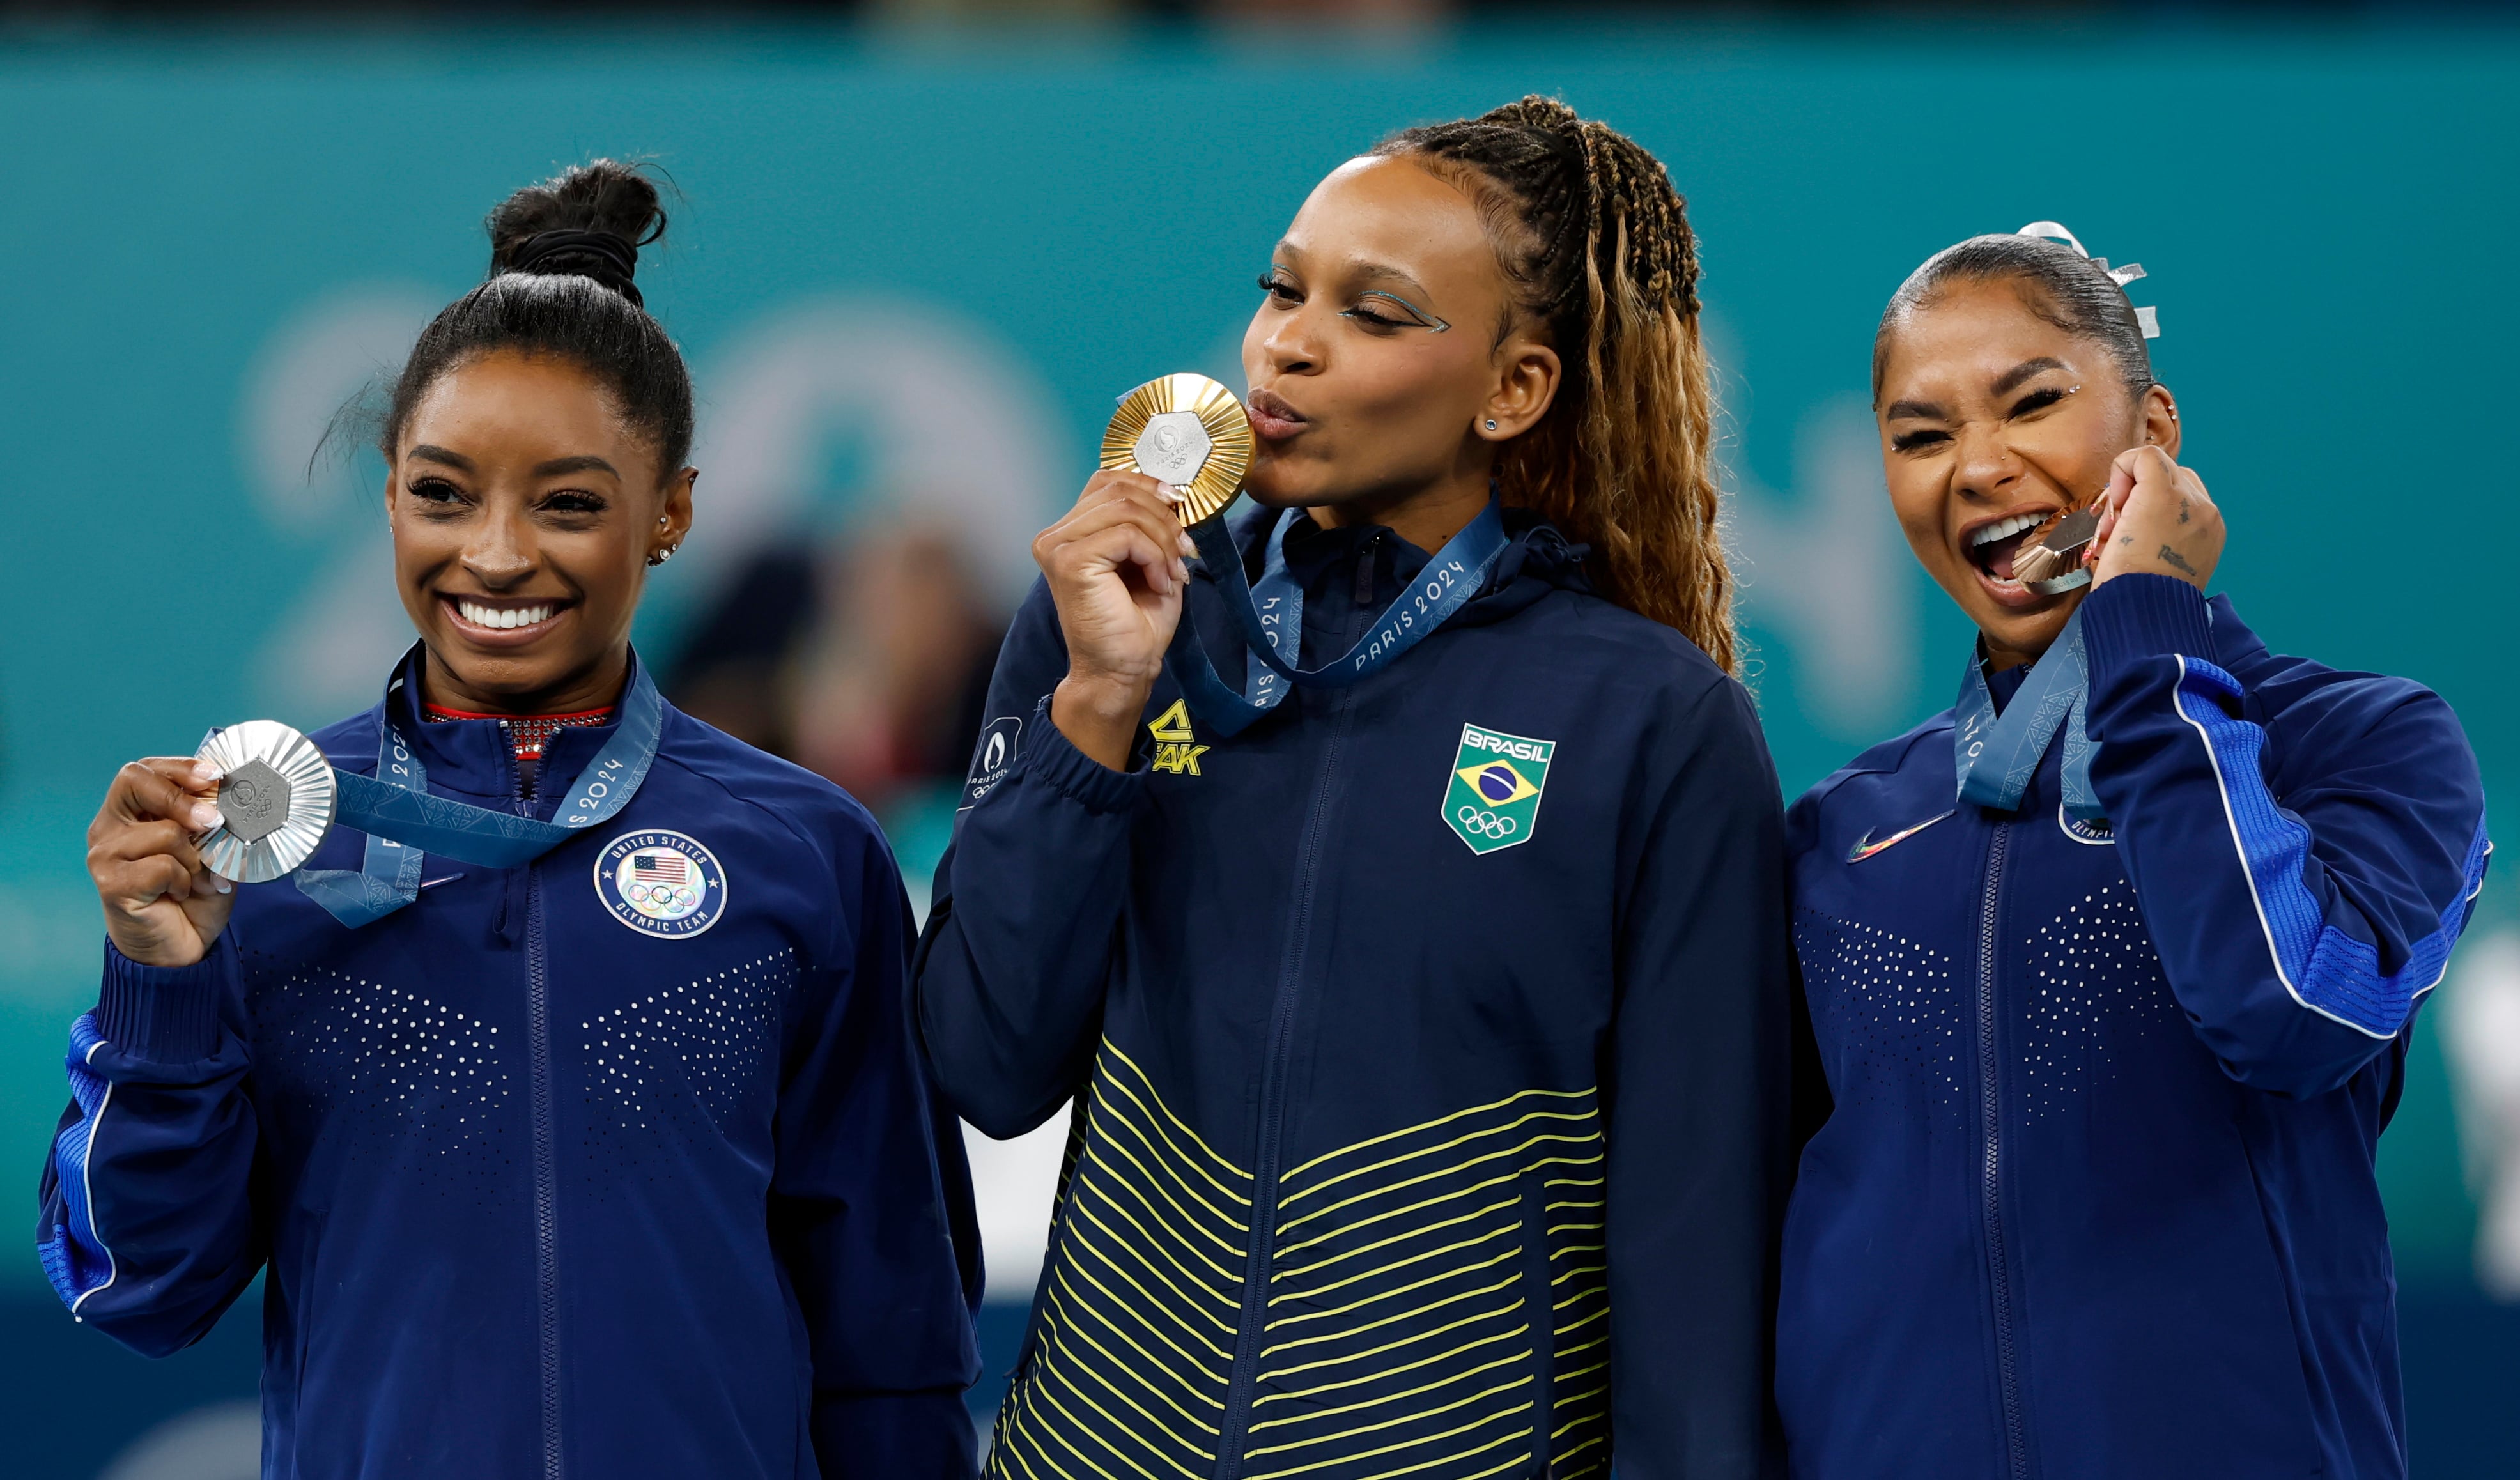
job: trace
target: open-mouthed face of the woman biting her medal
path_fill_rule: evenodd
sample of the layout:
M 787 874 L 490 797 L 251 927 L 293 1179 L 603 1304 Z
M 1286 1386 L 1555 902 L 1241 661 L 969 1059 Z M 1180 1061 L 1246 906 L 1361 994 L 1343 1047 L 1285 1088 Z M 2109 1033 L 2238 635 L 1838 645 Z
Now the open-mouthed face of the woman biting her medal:
M 2180 444 L 2165 386 L 2129 396 L 2107 345 L 2031 313 L 2013 280 L 1953 282 L 1895 323 L 1875 419 L 1908 547 L 1996 668 L 2044 653 L 2082 603 L 2013 580 L 2021 542 L 2097 499 L 2117 454 Z

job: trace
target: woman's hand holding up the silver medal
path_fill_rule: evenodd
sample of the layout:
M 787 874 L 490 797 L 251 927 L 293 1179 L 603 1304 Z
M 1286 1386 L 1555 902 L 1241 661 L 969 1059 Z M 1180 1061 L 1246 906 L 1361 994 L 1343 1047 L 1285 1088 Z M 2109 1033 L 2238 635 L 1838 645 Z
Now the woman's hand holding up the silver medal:
M 141 966 L 192 966 L 227 928 L 237 885 L 202 867 L 194 837 L 217 827 L 219 772 L 192 756 L 149 756 L 113 774 L 88 824 L 88 877 L 106 935 Z

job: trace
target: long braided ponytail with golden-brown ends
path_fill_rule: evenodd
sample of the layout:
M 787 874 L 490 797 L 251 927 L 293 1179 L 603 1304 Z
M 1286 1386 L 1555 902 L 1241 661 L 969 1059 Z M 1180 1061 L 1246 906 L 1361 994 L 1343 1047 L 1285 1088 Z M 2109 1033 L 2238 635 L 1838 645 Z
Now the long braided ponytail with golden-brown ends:
M 1504 446 L 1504 499 L 1590 545 L 1608 600 L 1678 628 L 1731 673 L 1698 242 L 1663 164 L 1540 96 L 1404 129 L 1373 154 L 1469 194 L 1515 285 L 1497 340 L 1537 320 L 1565 366 L 1550 413 Z

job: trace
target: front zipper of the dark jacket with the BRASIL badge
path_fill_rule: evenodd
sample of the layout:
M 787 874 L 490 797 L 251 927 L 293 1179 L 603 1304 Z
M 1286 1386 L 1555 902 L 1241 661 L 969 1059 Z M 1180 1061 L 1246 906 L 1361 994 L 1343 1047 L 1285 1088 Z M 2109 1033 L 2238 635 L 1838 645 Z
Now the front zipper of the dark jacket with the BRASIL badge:
M 1368 540 L 1356 555 L 1356 615 L 1351 628 L 1371 620 L 1373 552 Z M 1303 653 L 1303 633 L 1295 633 Z M 1338 754 L 1348 739 L 1353 688 L 1331 696 L 1331 736 L 1313 772 L 1313 802 L 1305 809 L 1303 840 L 1295 850 L 1295 890 L 1288 898 L 1285 956 L 1278 966 L 1278 993 L 1270 1003 L 1268 1059 L 1260 1064 L 1260 1147 L 1252 1157 L 1252 1246 L 1242 1266 L 1242 1311 L 1235 1326 L 1235 1367 L 1225 1384 L 1225 1425 L 1217 1435 L 1217 1480 L 1242 1475 L 1242 1440 L 1250 1432 L 1252 1387 L 1260 1382 L 1260 1336 L 1268 1326 L 1268 1271 L 1278 1251 L 1278 1162 L 1285 1145 L 1285 1069 L 1295 1056 L 1295 1003 L 1303 996 L 1303 963 L 1313 940 L 1313 893 L 1320 882 L 1320 842 L 1331 830 L 1331 792 L 1338 782 Z

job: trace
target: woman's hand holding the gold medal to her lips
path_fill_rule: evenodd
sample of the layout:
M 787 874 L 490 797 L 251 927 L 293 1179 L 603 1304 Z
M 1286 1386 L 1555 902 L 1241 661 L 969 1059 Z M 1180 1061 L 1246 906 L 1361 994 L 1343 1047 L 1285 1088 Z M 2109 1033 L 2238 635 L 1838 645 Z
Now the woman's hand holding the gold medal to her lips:
M 1197 555 L 1174 502 L 1177 494 L 1147 474 L 1099 471 L 1076 507 L 1033 540 L 1068 640 L 1068 676 L 1051 696 L 1051 724 L 1114 772 L 1129 764 L 1137 716 L 1182 620 L 1184 557 Z

